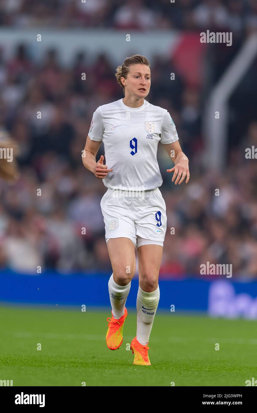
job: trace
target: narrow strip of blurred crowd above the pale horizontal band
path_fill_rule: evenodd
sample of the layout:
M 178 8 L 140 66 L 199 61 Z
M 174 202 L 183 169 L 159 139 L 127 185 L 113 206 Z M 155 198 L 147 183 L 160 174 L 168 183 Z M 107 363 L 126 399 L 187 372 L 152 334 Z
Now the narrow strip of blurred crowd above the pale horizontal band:
M 241 34 L 257 27 L 256 0 L 9 0 L 0 24 L 19 28 L 98 27 L 192 30 L 210 26 Z

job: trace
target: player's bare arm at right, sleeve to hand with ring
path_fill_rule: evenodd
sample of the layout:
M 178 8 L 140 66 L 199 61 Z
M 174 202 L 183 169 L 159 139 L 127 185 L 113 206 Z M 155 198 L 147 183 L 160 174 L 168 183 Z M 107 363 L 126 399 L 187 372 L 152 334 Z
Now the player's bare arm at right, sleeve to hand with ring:
M 179 145 L 179 141 L 176 140 L 176 142 L 168 143 L 168 144 L 162 144 L 165 147 L 165 150 L 167 154 L 171 157 L 172 161 L 174 162 L 174 165 L 172 169 L 167 169 L 167 172 L 173 172 L 172 176 L 172 182 L 174 182 L 174 179 L 177 176 L 177 179 L 175 180 L 175 185 L 179 183 L 179 185 L 184 181 L 186 177 L 186 183 L 188 183 L 190 174 L 189 174 L 189 159 L 186 157 L 184 152 L 182 152 L 182 149 Z M 181 178 L 181 179 L 180 179 Z

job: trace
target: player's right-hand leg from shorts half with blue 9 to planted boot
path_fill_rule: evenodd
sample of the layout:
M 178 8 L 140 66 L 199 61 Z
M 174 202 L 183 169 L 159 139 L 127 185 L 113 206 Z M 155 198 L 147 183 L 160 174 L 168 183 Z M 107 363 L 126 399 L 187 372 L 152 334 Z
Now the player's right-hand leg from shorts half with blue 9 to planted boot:
M 131 343 L 134 364 L 150 365 L 147 346 L 160 299 L 158 276 L 167 227 L 166 205 L 159 189 L 135 202 L 139 270 L 137 336 Z

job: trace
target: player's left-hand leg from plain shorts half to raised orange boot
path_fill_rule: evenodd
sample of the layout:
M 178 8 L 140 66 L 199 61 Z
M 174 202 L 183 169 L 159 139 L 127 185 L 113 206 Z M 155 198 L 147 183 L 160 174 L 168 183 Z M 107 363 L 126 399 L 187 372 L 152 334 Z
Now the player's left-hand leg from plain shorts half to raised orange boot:
M 125 303 L 136 268 L 137 238 L 134 220 L 131 218 L 131 199 L 113 195 L 116 195 L 116 192 L 108 189 L 101 199 L 101 210 L 113 268 L 108 282 L 112 316 L 107 318 L 106 344 L 109 349 L 116 350 L 123 342 L 123 324 L 127 317 Z

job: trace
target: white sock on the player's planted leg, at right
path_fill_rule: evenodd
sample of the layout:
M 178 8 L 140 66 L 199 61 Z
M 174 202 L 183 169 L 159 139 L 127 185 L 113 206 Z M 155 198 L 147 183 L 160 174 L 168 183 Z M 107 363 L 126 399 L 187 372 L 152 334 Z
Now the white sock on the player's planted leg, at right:
M 153 292 L 145 292 L 140 286 L 137 292 L 137 341 L 140 344 L 149 342 L 154 316 L 160 299 L 159 285 Z

